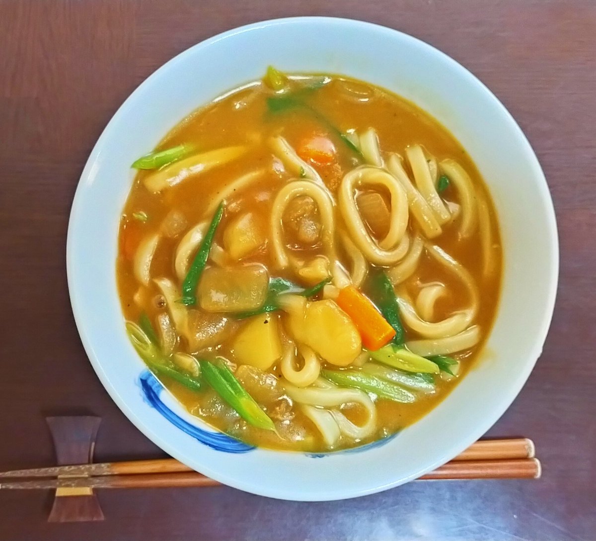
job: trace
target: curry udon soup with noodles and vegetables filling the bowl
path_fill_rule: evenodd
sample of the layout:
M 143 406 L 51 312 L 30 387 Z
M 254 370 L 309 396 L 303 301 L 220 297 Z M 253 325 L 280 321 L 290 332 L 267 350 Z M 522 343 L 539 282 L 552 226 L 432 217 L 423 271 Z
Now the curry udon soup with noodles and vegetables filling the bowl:
M 425 415 L 477 360 L 501 280 L 495 211 L 412 103 L 270 68 L 133 167 L 126 329 L 210 425 L 274 449 L 353 447 Z

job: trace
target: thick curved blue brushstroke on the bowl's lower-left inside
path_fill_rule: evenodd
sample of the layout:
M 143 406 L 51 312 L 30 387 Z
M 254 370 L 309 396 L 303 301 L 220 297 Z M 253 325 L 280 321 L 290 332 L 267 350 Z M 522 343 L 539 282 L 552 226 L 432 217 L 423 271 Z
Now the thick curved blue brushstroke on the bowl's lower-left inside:
M 195 438 L 195 440 L 200 441 L 200 443 L 211 447 L 211 449 L 225 453 L 247 453 L 255 449 L 254 446 L 232 438 L 228 434 L 211 432 L 191 425 L 191 423 L 174 413 L 160 398 L 163 385 L 150 370 L 144 370 L 141 373 L 141 376 L 139 376 L 139 385 L 141 386 L 143 398 L 147 404 L 161 413 L 170 423 Z

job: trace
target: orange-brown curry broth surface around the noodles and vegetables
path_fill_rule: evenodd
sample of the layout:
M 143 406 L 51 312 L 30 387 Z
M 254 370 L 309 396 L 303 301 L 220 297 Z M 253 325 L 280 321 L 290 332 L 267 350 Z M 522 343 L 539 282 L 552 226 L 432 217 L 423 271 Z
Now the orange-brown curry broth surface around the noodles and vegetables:
M 308 78 L 304 79 L 306 82 L 308 80 Z M 302 83 L 303 81 L 300 80 L 294 81 L 296 85 Z M 281 134 L 288 143 L 297 146 L 300 141 L 313 133 L 329 135 L 327 126 L 322 125 L 317 118 L 305 114 L 302 110 L 288 110 L 279 114 L 268 112 L 266 98 L 271 94 L 271 90 L 260 82 L 246 86 L 237 92 L 226 94 L 225 97 L 197 110 L 183 120 L 158 147 L 158 149 L 167 149 L 178 144 L 191 143 L 201 151 L 235 144 L 250 144 L 253 150 L 243 158 L 212 169 L 196 178 L 188 178 L 157 194 L 150 193 L 142 184 L 145 175 L 151 172 L 139 171 L 136 175 L 131 193 L 123 209 L 119 234 L 120 249 L 116 264 L 117 284 L 125 319 L 138 321 L 144 311 L 154 321 L 157 314 L 163 311 L 163 308 L 159 308 L 154 302 L 159 295 L 159 290 L 153 282 L 150 282 L 150 285 L 142 290 L 140 304 L 135 302 L 134 296 L 139 290 L 139 284 L 133 274 L 132 257 L 141 239 L 158 231 L 164 218 L 172 209 L 178 209 L 184 214 L 187 221 L 186 231 L 198 222 L 205 220 L 207 206 L 212 200 L 218 199 L 218 193 L 222 187 L 247 171 L 263 169 L 265 173 L 261 180 L 229 198 L 230 204 L 216 231 L 215 240 L 219 245 L 222 244 L 226 222 L 238 215 L 239 212 L 253 211 L 262 219 L 263 224 L 266 224 L 275 193 L 287 183 L 287 178 L 280 178 L 280 175 L 272 169 L 271 152 L 264 143 L 266 138 Z M 363 131 L 371 126 L 374 127 L 381 149 L 384 151 L 390 150 L 402 154 L 407 146 L 418 143 L 430 154 L 436 156 L 437 160 L 448 157 L 457 160 L 470 175 L 475 190 L 484 194 L 489 206 L 494 241 L 492 256 L 495 271 L 492 274 L 483 277 L 478 231 L 470 239 L 461 242 L 458 240 L 457 228 L 445 227 L 443 234 L 433 239 L 436 245 L 445 249 L 448 254 L 454 256 L 464 265 L 480 290 L 480 309 L 475 321 L 482 329 L 482 340 L 472 350 L 452 355 L 454 358 L 462 360 L 458 378 L 465 376 L 467 370 L 477 360 L 486 335 L 491 329 L 501 283 L 501 248 L 495 211 L 474 163 L 454 137 L 436 120 L 414 104 L 382 89 L 352 79 L 334 76 L 328 84 L 309 92 L 305 100 L 313 109 L 323 112 L 329 123 L 336 126 L 341 132 L 346 132 L 348 129 Z M 321 168 L 315 166 L 315 168 L 321 174 L 325 184 L 334 191 L 343 174 L 352 169 L 355 163 L 349 149 L 342 146 L 342 142 L 337 138 L 331 138 L 338 153 L 337 163 Z M 454 193 L 452 187 L 447 188 L 445 194 L 457 202 L 457 194 Z M 137 221 L 132 217 L 135 212 L 140 211 L 147 214 L 146 222 Z M 340 221 L 338 220 L 338 222 Z M 412 225 L 410 224 L 409 227 L 411 228 Z M 172 254 L 185 231 L 182 231 L 175 239 L 163 238 L 160 240 L 151 264 L 152 277 L 169 277 L 174 283 L 179 283 L 173 270 Z M 316 253 L 316 249 L 313 250 L 313 254 Z M 266 267 L 272 268 L 271 252 L 268 248 L 243 259 L 243 262 L 247 261 L 260 262 Z M 271 274 L 296 281 L 296 276 L 290 270 L 285 272 L 272 270 Z M 427 255 L 423 255 L 415 276 L 409 278 L 407 283 L 415 285 L 417 282 L 437 281 L 444 283 L 449 290 L 449 295 L 437 302 L 437 318 L 441 319 L 460 308 L 461 285 Z M 137 298 L 138 300 L 139 298 Z M 238 323 L 236 328 L 240 325 L 241 323 Z M 406 327 L 406 338 L 418 337 Z M 208 350 L 198 353 L 204 358 L 224 355 L 233 361 L 234 353 L 230 349 L 229 342 L 228 339 L 217 348 L 208 348 Z M 178 339 L 177 350 L 185 351 L 183 339 Z M 280 375 L 277 365 L 272 367 L 271 372 L 277 376 Z M 440 377 L 435 379 L 436 392 L 427 395 L 421 394 L 420 398 L 412 404 L 377 400 L 378 429 L 368 440 L 392 434 L 417 421 L 443 400 L 454 387 L 455 382 L 443 381 Z M 215 392 L 210 388 L 197 393 L 168 378 L 163 378 L 163 383 L 191 413 L 244 441 L 275 449 L 315 452 L 328 450 L 315 425 L 297 408 L 294 408 L 293 421 L 285 423 L 285 425 L 283 422 L 280 423 L 280 432 L 292 425 L 286 434 L 288 439 L 284 440 L 272 432 L 253 428 L 241 419 L 239 420 L 237 416 L 220 415 L 221 412 L 218 413 L 217 407 L 214 406 L 214 404 L 217 405 Z M 348 407 L 343 413 L 356 422 L 361 414 L 358 407 Z M 306 434 L 307 437 L 299 442 L 293 441 L 297 434 Z M 358 441 L 347 444 L 347 446 L 360 443 L 363 442 Z

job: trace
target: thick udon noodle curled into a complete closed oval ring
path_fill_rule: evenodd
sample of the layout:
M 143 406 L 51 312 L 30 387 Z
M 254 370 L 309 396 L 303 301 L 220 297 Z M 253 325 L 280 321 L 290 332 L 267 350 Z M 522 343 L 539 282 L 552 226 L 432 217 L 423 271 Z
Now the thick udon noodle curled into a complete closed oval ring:
M 375 240 L 364 224 L 356 204 L 356 190 L 364 186 L 385 188 L 391 198 L 390 227 L 384 239 Z M 376 265 L 393 265 L 408 251 L 408 199 L 401 184 L 384 169 L 362 166 L 343 177 L 339 188 L 339 208 L 355 245 Z

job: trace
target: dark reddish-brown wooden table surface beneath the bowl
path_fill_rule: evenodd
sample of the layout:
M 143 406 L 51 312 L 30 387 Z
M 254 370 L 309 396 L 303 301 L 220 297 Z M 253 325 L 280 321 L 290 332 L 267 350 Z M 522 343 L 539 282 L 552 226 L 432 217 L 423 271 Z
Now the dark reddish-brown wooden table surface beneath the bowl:
M 542 479 L 418 482 L 327 503 L 227 487 L 104 491 L 107 520 L 64 525 L 46 523 L 49 493 L 7 491 L 0 539 L 596 539 L 596 2 L 322 4 L 0 0 L 0 469 L 52 463 L 45 415 L 101 416 L 100 460 L 162 456 L 110 400 L 77 335 L 64 261 L 80 172 L 117 107 L 173 55 L 241 24 L 318 14 L 445 51 L 538 154 L 561 240 L 557 307 L 544 354 L 490 434 L 533 438 Z

